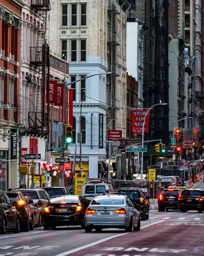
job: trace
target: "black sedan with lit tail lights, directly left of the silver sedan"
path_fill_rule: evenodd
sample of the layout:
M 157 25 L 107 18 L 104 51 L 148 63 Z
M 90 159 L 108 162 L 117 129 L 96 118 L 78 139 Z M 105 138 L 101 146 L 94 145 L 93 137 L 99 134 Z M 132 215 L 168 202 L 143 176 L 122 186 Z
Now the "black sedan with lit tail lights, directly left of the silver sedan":
M 50 198 L 44 208 L 44 230 L 55 229 L 56 226 L 84 227 L 86 208 L 86 202 L 78 195 Z

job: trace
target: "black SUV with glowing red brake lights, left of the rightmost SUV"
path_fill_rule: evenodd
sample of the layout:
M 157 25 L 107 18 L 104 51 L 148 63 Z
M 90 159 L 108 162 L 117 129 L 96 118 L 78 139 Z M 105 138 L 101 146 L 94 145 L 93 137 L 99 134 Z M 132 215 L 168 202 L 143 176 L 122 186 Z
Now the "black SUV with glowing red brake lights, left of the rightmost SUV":
M 180 189 L 164 189 L 158 198 L 158 211 L 166 212 L 169 209 L 178 209 L 178 198 L 181 196 Z

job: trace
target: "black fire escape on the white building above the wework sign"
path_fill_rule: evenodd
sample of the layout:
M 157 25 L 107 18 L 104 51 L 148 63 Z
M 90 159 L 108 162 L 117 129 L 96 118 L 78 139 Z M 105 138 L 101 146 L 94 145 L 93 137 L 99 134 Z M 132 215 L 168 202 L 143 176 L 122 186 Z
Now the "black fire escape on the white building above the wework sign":
M 39 129 L 47 133 L 47 113 L 45 113 L 45 85 L 47 67 L 49 65 L 48 44 L 45 42 L 47 12 L 50 10 L 49 0 L 31 0 L 31 14 L 38 18 L 37 44 L 30 47 L 31 71 L 38 73 L 38 84 L 41 88 L 37 95 L 36 111 L 29 112 L 29 128 Z

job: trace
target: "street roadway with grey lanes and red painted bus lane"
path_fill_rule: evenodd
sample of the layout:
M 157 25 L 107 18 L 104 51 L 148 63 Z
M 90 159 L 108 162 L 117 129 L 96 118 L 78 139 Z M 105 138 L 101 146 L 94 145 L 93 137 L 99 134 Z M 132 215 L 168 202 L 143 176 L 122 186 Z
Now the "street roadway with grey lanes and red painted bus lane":
M 0 256 L 203 256 L 199 234 L 204 213 L 151 211 L 139 232 L 102 230 L 85 233 L 79 227 L 0 236 Z

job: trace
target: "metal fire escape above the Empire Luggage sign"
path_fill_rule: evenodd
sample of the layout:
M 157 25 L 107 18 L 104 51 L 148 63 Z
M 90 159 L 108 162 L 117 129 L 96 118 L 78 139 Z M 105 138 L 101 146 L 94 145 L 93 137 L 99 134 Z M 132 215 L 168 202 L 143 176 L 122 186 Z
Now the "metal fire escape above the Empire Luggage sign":
M 108 111 L 107 125 L 113 130 L 117 128 L 117 110 L 119 107 L 118 91 L 117 91 L 117 76 L 120 76 L 118 64 L 118 45 L 120 45 L 120 37 L 118 36 L 118 14 L 121 12 L 121 7 L 117 1 L 110 0 L 108 4 L 108 71 L 112 74 L 108 77 Z

